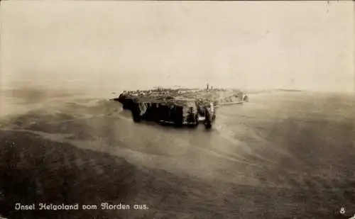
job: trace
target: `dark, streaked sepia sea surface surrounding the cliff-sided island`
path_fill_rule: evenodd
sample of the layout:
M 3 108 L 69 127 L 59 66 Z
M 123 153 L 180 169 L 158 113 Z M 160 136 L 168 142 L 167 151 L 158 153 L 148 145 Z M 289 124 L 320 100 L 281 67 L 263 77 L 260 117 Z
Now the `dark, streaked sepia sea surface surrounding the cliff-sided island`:
M 353 94 L 250 94 L 249 103 L 218 108 L 212 130 L 133 123 L 110 95 L 1 91 L 2 217 L 305 219 L 355 213 Z M 97 209 L 16 210 L 16 203 Z M 102 209 L 102 203 L 130 209 Z

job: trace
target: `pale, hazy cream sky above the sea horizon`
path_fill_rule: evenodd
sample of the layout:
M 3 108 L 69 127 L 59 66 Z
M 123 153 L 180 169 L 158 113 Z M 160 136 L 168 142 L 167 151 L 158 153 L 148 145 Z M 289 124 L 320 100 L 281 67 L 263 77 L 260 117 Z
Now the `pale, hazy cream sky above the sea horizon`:
M 351 1 L 1 1 L 1 84 L 354 91 Z

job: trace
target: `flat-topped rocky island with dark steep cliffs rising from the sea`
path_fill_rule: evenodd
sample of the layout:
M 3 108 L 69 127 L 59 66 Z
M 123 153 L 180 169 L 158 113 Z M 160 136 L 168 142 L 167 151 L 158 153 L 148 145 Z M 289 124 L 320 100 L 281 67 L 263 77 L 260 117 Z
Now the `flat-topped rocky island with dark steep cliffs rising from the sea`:
M 206 128 L 211 128 L 216 119 L 216 106 L 241 103 L 246 95 L 223 89 L 152 89 L 124 91 L 113 100 L 131 110 L 135 122 L 143 119 L 194 127 L 202 122 Z

